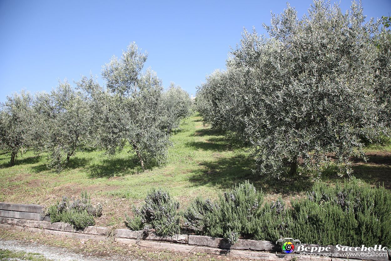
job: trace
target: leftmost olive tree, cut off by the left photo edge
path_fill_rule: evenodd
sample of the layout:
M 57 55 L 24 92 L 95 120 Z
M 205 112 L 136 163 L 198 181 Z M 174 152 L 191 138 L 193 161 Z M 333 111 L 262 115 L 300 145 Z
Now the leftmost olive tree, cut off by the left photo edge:
M 13 166 L 18 152 L 26 148 L 30 128 L 32 96 L 22 90 L 20 94 L 7 96 L 7 101 L 1 103 L 0 111 L 0 148 L 11 153 L 9 166 Z

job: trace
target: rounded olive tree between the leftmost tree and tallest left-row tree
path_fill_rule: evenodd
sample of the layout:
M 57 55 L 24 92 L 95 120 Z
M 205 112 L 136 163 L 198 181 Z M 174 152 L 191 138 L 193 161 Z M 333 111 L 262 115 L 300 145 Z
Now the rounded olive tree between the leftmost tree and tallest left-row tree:
M 36 94 L 32 147 L 48 153 L 47 166 L 60 172 L 86 142 L 90 128 L 90 110 L 85 95 L 65 80 L 52 90 Z

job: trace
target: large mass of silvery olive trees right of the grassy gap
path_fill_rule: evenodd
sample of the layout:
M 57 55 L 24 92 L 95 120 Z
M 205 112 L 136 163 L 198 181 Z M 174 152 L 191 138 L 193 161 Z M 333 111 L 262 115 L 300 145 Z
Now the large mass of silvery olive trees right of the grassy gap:
M 262 174 L 319 169 L 330 155 L 350 172 L 391 118 L 391 34 L 364 18 L 356 2 L 343 14 L 316 0 L 301 19 L 289 4 L 272 15 L 269 37 L 245 30 L 226 70 L 198 87 L 204 121 L 251 144 Z

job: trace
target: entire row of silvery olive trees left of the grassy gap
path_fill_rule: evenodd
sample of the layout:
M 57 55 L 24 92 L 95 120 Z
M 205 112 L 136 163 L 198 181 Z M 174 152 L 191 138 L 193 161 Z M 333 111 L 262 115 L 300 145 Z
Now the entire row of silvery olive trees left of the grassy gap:
M 192 110 L 186 91 L 171 83 L 164 90 L 147 53 L 135 43 L 102 69 L 106 86 L 82 76 L 74 89 L 65 80 L 50 94 L 22 91 L 7 97 L 0 111 L 0 146 L 10 165 L 26 148 L 47 152 L 48 167 L 60 171 L 81 147 L 115 154 L 131 147 L 142 169 L 165 157 L 173 129 Z M 129 152 L 130 152 L 129 151 Z

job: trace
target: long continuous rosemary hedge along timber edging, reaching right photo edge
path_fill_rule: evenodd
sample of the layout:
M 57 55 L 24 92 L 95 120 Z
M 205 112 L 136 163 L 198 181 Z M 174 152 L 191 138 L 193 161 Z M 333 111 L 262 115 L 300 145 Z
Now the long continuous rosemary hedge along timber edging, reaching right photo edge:
M 183 213 L 183 228 L 195 234 L 276 241 L 294 237 L 319 245 L 378 245 L 391 240 L 391 194 L 354 178 L 335 187 L 317 183 L 307 198 L 264 201 L 263 194 L 246 183 L 215 201 L 196 198 Z

